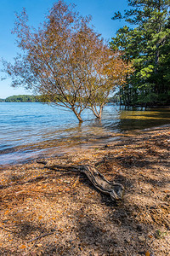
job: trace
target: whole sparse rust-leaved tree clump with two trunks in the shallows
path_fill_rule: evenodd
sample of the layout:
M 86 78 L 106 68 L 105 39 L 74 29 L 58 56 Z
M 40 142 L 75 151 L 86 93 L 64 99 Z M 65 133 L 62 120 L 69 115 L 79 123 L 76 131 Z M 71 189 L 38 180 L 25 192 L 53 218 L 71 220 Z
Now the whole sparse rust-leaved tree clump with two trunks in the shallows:
M 106 98 L 127 71 L 122 60 L 116 64 L 117 53 L 94 32 L 91 17 L 82 17 L 74 8 L 59 0 L 37 29 L 27 25 L 24 9 L 13 31 L 23 54 L 14 58 L 14 65 L 3 61 L 3 67 L 12 86 L 35 90 L 44 102 L 69 108 L 82 122 L 85 108 L 101 117 Z M 116 69 L 122 72 L 115 75 Z

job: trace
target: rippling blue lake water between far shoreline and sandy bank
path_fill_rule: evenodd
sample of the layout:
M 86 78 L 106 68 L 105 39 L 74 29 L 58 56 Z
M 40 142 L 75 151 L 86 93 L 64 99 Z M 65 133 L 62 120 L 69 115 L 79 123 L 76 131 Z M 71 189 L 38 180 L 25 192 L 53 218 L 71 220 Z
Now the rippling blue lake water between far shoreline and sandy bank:
M 62 154 L 68 148 L 90 147 L 120 134 L 170 124 L 170 109 L 125 109 L 107 105 L 101 121 L 42 103 L 0 102 L 0 165 Z

